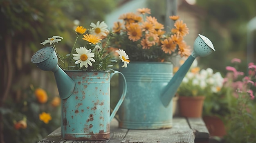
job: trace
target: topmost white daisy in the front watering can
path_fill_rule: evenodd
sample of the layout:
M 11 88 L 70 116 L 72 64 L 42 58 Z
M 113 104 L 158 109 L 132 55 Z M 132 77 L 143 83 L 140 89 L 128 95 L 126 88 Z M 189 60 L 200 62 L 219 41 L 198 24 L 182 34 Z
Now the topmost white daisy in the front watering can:
M 90 26 L 92 28 L 94 28 L 94 31 L 90 34 L 92 35 L 97 35 L 98 37 L 101 37 L 101 36 L 107 36 L 107 33 L 109 33 L 108 31 L 108 25 L 103 21 L 101 23 L 99 23 L 99 21 L 94 24 L 93 22 L 90 24 Z

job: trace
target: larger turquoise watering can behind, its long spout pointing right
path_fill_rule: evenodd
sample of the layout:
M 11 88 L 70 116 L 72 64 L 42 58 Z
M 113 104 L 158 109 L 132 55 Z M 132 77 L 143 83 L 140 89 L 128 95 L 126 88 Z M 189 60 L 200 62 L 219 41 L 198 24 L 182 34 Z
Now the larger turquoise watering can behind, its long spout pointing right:
M 171 62 L 131 62 L 121 73 L 127 81 L 127 94 L 119 115 L 119 127 L 163 129 L 172 127 L 172 99 L 194 59 L 215 51 L 211 41 L 198 35 L 186 62 L 173 76 Z M 193 108 L 193 107 L 191 107 Z

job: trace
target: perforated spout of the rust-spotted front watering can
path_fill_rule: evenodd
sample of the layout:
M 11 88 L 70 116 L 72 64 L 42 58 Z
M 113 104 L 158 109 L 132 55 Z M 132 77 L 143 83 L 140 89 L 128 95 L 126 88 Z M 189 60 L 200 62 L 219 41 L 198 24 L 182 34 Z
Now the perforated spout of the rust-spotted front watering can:
M 46 46 L 38 50 L 32 56 L 31 62 L 36 64 L 41 70 L 51 70 L 54 73 L 61 99 L 67 99 L 72 95 L 75 82 L 58 66 L 58 57 L 54 47 Z

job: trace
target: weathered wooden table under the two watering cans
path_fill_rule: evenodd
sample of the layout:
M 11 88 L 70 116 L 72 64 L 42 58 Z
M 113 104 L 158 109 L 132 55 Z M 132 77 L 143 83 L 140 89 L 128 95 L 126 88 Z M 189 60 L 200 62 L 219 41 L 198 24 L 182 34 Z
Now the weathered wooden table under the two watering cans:
M 70 141 L 61 138 L 61 128 L 38 143 L 209 143 L 209 132 L 201 118 L 173 118 L 173 128 L 161 130 L 130 130 L 110 123 L 110 139 L 104 141 Z

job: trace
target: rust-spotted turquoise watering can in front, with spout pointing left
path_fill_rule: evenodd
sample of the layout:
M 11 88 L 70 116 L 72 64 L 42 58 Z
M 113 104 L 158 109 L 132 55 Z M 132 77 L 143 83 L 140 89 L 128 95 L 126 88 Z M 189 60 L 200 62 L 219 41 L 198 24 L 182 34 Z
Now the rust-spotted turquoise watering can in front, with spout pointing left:
M 46 46 L 31 58 L 41 70 L 54 73 L 61 97 L 61 137 L 67 140 L 106 140 L 110 138 L 110 121 L 126 96 L 126 79 L 118 71 L 65 70 L 58 66 L 54 47 Z M 123 78 L 123 92 L 110 115 L 110 79 Z

